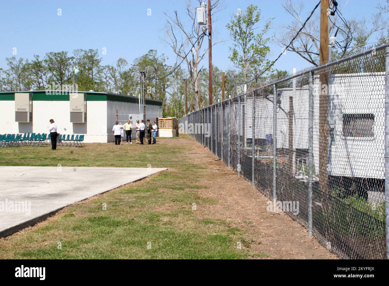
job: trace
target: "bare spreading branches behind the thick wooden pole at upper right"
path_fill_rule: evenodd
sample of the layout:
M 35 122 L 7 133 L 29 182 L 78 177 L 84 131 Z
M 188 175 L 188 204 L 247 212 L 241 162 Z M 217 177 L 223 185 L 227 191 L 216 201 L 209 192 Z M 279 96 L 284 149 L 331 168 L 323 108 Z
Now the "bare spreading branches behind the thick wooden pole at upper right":
M 280 27 L 284 32 L 280 35 L 274 35 L 279 46 L 285 49 L 298 30 L 300 30 L 305 21 L 305 16 L 302 15 L 304 10 L 302 1 L 294 5 L 292 0 L 286 0 L 282 6 L 287 14 L 294 18 L 290 24 Z M 345 7 L 342 8 L 342 10 L 344 9 Z M 329 36 L 334 36 L 336 33 L 336 42 L 338 44 L 335 46 L 335 54 L 338 58 L 354 53 L 356 49 L 368 44 L 373 34 L 381 34 L 387 28 L 387 21 L 382 19 L 380 13 L 374 14 L 369 21 L 363 18 L 351 18 L 347 20 L 347 26 L 338 15 L 330 16 L 330 19 L 332 23 L 331 21 L 329 22 Z M 286 51 L 297 53 L 312 65 L 319 65 L 319 25 L 319 15 L 311 18 Z

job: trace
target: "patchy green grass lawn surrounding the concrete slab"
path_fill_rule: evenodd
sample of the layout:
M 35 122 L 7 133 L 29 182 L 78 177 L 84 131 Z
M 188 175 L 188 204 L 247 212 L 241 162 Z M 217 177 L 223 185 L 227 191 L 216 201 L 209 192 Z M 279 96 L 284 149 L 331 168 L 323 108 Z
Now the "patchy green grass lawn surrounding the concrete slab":
M 172 143 L 172 142 L 177 143 Z M 170 144 L 166 144 L 170 142 Z M 142 181 L 61 210 L 32 228 L 0 239 L 0 258 L 250 258 L 237 249 L 245 233 L 221 219 L 200 219 L 192 204 L 217 204 L 201 197 L 198 178 L 207 166 L 193 163 L 187 137 L 157 145 L 86 144 L 85 148 L 0 149 L 2 166 L 167 167 Z M 184 143 L 184 144 L 181 144 Z M 91 174 L 93 175 L 93 174 Z M 102 205 L 107 209 L 103 210 Z M 61 247 L 59 247 L 61 246 Z M 147 246 L 151 246 L 148 249 Z M 60 248 L 60 249 L 59 249 Z

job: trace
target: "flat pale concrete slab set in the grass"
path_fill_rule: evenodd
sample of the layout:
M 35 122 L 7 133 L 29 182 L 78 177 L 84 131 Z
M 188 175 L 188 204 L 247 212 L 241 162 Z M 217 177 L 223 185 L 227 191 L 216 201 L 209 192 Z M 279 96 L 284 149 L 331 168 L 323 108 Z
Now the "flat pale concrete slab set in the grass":
M 0 237 L 166 168 L 1 167 Z

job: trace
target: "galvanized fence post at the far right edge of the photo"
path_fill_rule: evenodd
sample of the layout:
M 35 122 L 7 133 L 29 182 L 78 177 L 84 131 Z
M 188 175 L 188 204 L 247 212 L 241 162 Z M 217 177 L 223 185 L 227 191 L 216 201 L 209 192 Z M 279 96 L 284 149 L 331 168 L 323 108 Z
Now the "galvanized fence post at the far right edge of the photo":
M 389 259 L 389 47 L 385 48 L 385 243 Z

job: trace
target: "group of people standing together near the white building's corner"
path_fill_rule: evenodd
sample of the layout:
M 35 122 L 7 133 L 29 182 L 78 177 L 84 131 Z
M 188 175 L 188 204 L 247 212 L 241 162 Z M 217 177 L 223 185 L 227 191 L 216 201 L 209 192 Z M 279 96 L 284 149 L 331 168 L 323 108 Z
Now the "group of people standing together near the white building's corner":
M 150 120 L 146 120 L 146 125 L 144 124 L 143 119 L 142 120 L 137 120 L 137 123 L 132 126 L 130 123 L 130 120 L 127 120 L 127 123 L 122 125 L 119 123 L 119 121 L 116 121 L 114 127 L 112 128 L 112 131 L 115 135 L 115 145 L 120 145 L 121 141 L 121 129 L 124 130 L 126 133 L 126 144 L 132 144 L 131 142 L 131 135 L 132 135 L 132 128 L 135 127 L 136 130 L 136 139 L 135 143 L 136 144 L 143 144 L 144 138 L 146 137 L 147 139 L 147 144 L 156 144 L 156 137 L 157 137 L 157 131 L 158 127 L 155 123 L 155 121 L 150 123 Z M 151 136 L 152 136 L 152 143 L 151 143 Z

